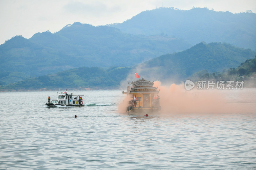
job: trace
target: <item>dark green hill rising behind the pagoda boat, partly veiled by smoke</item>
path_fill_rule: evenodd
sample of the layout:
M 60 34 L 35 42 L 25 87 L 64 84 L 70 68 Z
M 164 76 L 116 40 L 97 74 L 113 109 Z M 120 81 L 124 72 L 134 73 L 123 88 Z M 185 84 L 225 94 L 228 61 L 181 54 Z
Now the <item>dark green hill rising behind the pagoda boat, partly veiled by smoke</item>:
M 184 81 L 197 71 L 207 69 L 209 72 L 223 71 L 237 67 L 241 62 L 251 59 L 256 51 L 232 46 L 227 43 L 201 42 L 195 46 L 173 54 L 162 55 L 139 64 L 140 75 L 151 79 L 175 83 Z

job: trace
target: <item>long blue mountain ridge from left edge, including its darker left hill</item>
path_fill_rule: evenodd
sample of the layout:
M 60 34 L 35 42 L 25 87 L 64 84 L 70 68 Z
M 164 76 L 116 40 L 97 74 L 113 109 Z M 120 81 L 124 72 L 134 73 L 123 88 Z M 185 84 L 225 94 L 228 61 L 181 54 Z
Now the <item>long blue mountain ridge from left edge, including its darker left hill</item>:
M 6 84 L 78 67 L 131 67 L 189 47 L 177 38 L 131 35 L 108 26 L 74 23 L 56 33 L 36 33 L 30 39 L 15 36 L 0 45 L 0 71 L 7 71 L 0 84 L 1 79 Z M 10 72 L 24 75 L 10 78 Z

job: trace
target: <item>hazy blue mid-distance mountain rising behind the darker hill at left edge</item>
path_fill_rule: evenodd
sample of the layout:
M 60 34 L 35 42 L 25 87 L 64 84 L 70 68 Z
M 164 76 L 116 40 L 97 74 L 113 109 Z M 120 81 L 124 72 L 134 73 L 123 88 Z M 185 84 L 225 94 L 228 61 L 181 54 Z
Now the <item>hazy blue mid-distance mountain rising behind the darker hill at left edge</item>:
M 165 36 L 132 35 L 108 26 L 76 22 L 59 32 L 36 33 L 31 42 L 52 48 L 73 67 L 133 66 L 162 54 L 185 50 L 183 40 Z

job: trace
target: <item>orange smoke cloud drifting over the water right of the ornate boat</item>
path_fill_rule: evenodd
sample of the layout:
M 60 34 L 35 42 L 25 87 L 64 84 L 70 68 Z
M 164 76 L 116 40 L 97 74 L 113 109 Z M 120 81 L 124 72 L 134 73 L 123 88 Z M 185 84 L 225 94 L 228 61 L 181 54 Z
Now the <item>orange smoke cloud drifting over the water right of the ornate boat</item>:
M 161 86 L 161 82 L 154 82 L 160 90 L 161 114 L 176 113 L 255 113 L 255 102 L 244 107 L 248 95 L 246 90 L 185 90 L 184 84 L 172 84 L 170 87 Z M 249 92 L 250 93 L 250 92 Z M 243 97 L 244 96 L 244 97 Z M 238 100 L 237 100 L 238 99 Z

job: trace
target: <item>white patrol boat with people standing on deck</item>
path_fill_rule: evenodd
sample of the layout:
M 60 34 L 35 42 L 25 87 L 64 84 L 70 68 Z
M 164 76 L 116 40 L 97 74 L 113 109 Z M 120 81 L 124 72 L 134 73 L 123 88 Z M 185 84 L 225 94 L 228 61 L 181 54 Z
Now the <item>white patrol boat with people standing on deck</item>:
M 83 96 L 84 95 L 74 95 L 73 93 L 68 94 L 68 92 L 60 92 L 57 93 L 58 98 L 50 100 L 50 102 L 46 102 L 45 104 L 49 107 L 54 105 L 61 105 L 61 106 L 84 106 Z M 79 101 L 81 98 L 81 101 Z

